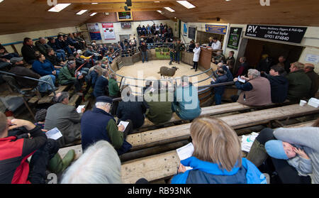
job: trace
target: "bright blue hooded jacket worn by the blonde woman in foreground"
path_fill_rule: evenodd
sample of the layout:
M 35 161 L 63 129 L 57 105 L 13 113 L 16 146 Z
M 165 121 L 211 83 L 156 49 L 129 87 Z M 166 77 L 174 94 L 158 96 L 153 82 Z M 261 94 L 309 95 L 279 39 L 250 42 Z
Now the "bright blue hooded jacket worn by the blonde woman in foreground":
M 267 184 L 266 177 L 246 158 L 241 167 L 233 167 L 229 172 L 220 170 L 218 164 L 198 160 L 196 157 L 181 160 L 184 166 L 193 167 L 172 178 L 172 184 Z

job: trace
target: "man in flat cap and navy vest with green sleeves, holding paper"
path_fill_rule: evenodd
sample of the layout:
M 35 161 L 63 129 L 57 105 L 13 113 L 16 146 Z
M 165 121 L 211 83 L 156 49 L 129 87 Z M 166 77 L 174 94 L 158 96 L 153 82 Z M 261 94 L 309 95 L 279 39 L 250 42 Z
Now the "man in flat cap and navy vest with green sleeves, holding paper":
M 132 145 L 125 141 L 126 136 L 132 130 L 133 124 L 128 121 L 128 126 L 117 126 L 116 120 L 110 114 L 113 99 L 102 96 L 96 98 L 95 108 L 86 111 L 81 120 L 82 150 L 97 141 L 108 141 L 118 152 L 118 155 L 126 153 Z

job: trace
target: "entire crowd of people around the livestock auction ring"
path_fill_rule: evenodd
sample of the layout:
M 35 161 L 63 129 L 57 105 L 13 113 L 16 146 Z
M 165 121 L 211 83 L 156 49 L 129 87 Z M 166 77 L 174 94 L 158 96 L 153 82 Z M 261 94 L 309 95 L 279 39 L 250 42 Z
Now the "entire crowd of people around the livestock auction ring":
M 153 34 L 152 28 L 150 32 L 145 29 L 146 34 Z M 169 35 L 169 31 L 157 30 L 155 26 L 157 31 Z M 33 45 L 33 40 L 25 38 L 21 49 L 23 57 L 0 47 L 1 70 L 47 82 L 30 79 L 22 79 L 22 82 L 17 78 L 16 82 L 6 79 L 8 83 L 38 87 L 40 92 L 52 92 L 58 84 L 72 84 L 74 93 L 80 95 L 86 84 L 86 89 L 93 90 L 94 107 L 79 113 L 76 107 L 69 105 L 69 93 L 61 92 L 55 95 L 55 104 L 37 112 L 36 123 L 7 118 L 0 113 L 0 183 L 45 183 L 47 169 L 62 174 L 61 183 L 65 184 L 121 183 L 118 156 L 132 148 L 126 141 L 127 136 L 140 128 L 145 118 L 155 125 L 166 123 L 174 112 L 180 119 L 191 121 L 194 153 L 191 158 L 181 160 L 177 175 L 170 181 L 172 184 L 264 184 L 267 183 L 262 174 L 265 165 L 272 169 L 268 172 L 276 171 L 283 183 L 319 182 L 318 121 L 307 128 L 275 131 L 265 128 L 247 158 L 242 158 L 240 139 L 233 128 L 220 119 L 200 117 L 198 90 L 189 82 L 189 77 L 181 77 L 174 89 L 169 89 L 167 82 L 147 81 L 139 97 L 133 95 L 128 85 L 118 87 L 116 74 L 108 72 L 108 62 L 112 62 L 114 52 L 128 50 L 128 45 L 136 45 L 135 42 L 86 45 L 76 33 L 48 40 L 46 43 L 44 38 L 39 38 Z M 179 63 L 184 44 L 177 40 L 169 48 L 171 63 L 173 60 Z M 198 70 L 200 49 L 199 43 L 194 43 L 194 70 Z M 147 48 L 140 50 L 145 52 Z M 250 69 L 245 57 L 240 57 L 235 75 L 233 56 L 233 51 L 227 59 L 222 53 L 216 53 L 212 61 L 217 63 L 218 70 L 211 84 L 234 81 L 240 94 L 232 99 L 241 104 L 264 106 L 286 99 L 296 102 L 314 97 L 318 92 L 319 76 L 314 72 L 314 65 L 293 62 L 287 71 L 284 57 L 279 57 L 279 64 L 272 65 L 265 56 L 256 70 Z M 147 53 L 142 57 L 143 62 L 147 61 Z M 23 60 L 32 65 L 32 70 L 24 67 Z M 221 104 L 225 86 L 214 87 L 214 92 L 216 104 Z M 169 96 L 174 96 L 174 100 L 169 101 Z M 121 101 L 114 100 L 119 97 Z M 45 132 L 54 128 L 62 133 L 57 141 L 45 136 Z M 57 153 L 59 148 L 77 141 L 82 143 L 83 155 L 72 163 L 75 152 L 69 150 L 61 158 Z M 186 170 L 188 166 L 194 169 Z

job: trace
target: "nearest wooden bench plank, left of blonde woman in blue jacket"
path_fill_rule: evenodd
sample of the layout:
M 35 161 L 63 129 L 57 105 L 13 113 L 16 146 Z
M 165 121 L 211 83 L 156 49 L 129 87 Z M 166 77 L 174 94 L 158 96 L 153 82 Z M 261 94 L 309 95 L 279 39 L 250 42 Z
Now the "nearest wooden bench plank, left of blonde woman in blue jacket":
M 310 121 L 291 127 L 311 126 L 314 122 Z M 289 128 L 290 126 L 286 127 Z M 125 184 L 134 184 L 142 177 L 148 181 L 163 180 L 177 173 L 179 162 L 176 150 L 132 160 L 123 163 L 121 166 L 122 181 Z

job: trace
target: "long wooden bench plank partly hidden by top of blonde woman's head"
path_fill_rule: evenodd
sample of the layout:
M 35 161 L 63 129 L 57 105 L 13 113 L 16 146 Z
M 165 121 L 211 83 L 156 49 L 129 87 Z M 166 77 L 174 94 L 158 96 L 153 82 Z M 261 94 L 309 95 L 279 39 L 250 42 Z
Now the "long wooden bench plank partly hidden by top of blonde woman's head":
M 319 113 L 319 109 L 312 106 L 299 106 L 293 104 L 289 106 L 277 107 L 274 109 L 266 109 L 261 111 L 253 111 L 245 114 L 237 114 L 233 116 L 221 117 L 223 121 L 228 123 L 234 129 L 244 128 L 248 126 L 256 126 L 276 119 L 286 119 L 294 116 L 304 116 L 308 114 Z M 161 128 L 153 131 L 146 131 L 142 133 L 130 134 L 126 141 L 133 145 L 133 150 L 142 148 L 149 148 L 155 145 L 162 145 L 177 141 L 184 141 L 190 137 L 189 128 L 191 123 L 182 124 L 179 126 L 172 126 Z M 65 155 L 68 150 L 76 150 L 77 157 L 82 155 L 82 145 L 74 145 L 68 148 L 59 150 L 61 155 Z

